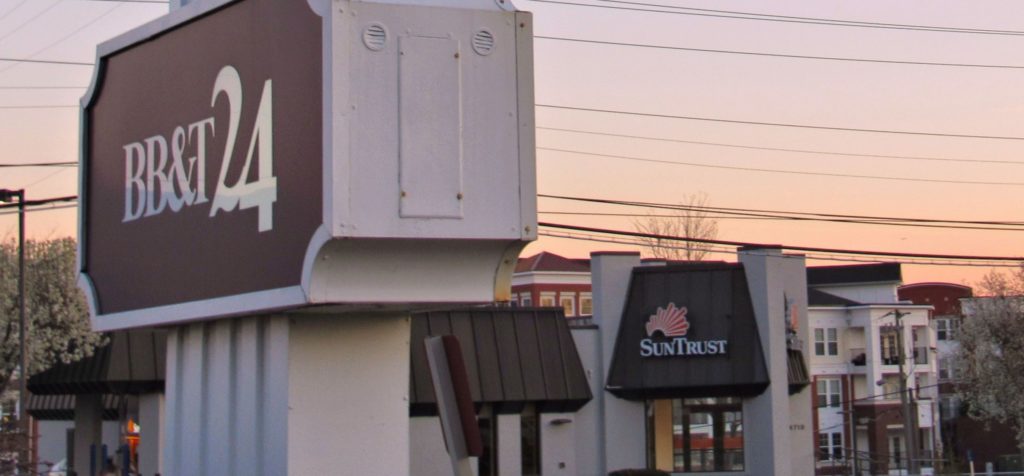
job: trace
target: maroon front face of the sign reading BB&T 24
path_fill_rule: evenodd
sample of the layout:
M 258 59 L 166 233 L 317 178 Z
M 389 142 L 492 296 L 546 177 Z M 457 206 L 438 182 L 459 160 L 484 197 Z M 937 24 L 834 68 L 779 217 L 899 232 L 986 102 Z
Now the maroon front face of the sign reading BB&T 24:
M 100 58 L 81 212 L 97 314 L 300 285 L 323 221 L 321 21 L 242 0 Z

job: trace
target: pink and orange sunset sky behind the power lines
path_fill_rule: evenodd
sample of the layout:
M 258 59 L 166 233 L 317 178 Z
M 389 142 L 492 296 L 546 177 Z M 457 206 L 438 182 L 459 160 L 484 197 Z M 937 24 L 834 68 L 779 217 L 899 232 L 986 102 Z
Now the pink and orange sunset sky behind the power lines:
M 703 192 L 725 208 L 1024 222 L 1024 3 L 515 4 L 534 12 L 538 37 L 541 193 L 673 204 Z M 0 58 L 91 62 L 98 42 L 166 11 L 0 0 Z M 77 104 L 91 75 L 87 66 L 0 61 L 0 164 L 77 160 Z M 0 188 L 26 188 L 29 200 L 77 194 L 77 169 L 0 168 Z M 539 210 L 646 212 L 553 199 Z M 73 209 L 33 212 L 28 233 L 75 235 L 76 219 Z M 630 217 L 540 219 L 634 229 Z M 0 215 L 0 237 L 16 236 L 16 223 Z M 1024 256 L 1022 232 L 723 218 L 718 237 Z M 637 248 L 545 236 L 527 254 L 627 249 Z M 973 285 L 989 269 L 906 265 L 904 280 Z

